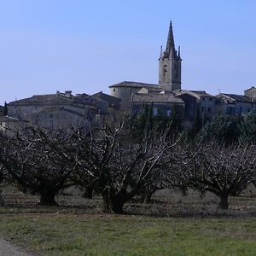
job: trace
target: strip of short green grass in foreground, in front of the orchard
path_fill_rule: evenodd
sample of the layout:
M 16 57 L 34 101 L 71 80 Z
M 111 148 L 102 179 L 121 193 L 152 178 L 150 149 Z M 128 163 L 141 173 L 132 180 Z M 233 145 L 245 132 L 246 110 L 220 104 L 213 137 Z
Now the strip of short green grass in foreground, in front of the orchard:
M 256 255 L 256 218 L 2 213 L 0 233 L 41 255 Z

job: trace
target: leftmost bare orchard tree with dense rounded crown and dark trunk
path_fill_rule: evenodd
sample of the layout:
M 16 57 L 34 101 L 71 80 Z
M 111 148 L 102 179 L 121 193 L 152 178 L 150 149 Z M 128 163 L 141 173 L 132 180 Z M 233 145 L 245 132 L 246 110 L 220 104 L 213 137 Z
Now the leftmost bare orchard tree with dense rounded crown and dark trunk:
M 67 161 L 69 138 L 66 131 L 26 127 L 4 138 L 0 162 L 21 187 L 40 195 L 40 204 L 55 205 L 55 195 L 70 185 L 74 168 Z

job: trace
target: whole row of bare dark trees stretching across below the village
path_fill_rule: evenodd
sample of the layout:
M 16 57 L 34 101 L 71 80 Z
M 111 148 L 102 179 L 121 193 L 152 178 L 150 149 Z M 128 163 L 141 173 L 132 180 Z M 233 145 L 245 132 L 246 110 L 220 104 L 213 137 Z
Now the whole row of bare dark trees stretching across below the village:
M 86 131 L 28 126 L 11 136 L 2 132 L 0 183 L 39 195 L 42 205 L 55 205 L 61 189 L 77 185 L 102 195 L 104 212 L 122 213 L 133 197 L 149 201 L 166 188 L 209 191 L 228 209 L 230 195 L 256 183 L 252 116 L 239 123 L 242 136 L 233 135 L 227 116 L 189 137 L 173 119 L 148 113 L 98 121 Z

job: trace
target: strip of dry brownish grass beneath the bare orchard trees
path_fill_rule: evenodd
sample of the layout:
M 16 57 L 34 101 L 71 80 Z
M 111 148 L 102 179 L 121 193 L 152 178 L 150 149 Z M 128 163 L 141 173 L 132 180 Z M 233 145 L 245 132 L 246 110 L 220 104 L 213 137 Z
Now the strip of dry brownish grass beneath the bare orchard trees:
M 6 207 L 0 208 L 0 212 L 78 212 L 95 214 L 102 212 L 102 197 L 95 195 L 93 200 L 82 198 L 79 189 L 67 189 L 64 195 L 58 195 L 56 201 L 59 207 L 38 206 L 37 195 L 25 195 L 13 187 L 3 189 L 3 197 Z M 40 210 L 41 209 L 41 210 Z M 150 204 L 141 204 L 137 198 L 125 204 L 125 213 L 133 215 L 154 217 L 246 217 L 256 216 L 256 189 L 251 186 L 240 196 L 230 197 L 230 209 L 228 211 L 218 209 L 218 198 L 211 193 L 204 197 L 192 190 L 183 196 L 178 190 L 164 189 L 153 196 Z

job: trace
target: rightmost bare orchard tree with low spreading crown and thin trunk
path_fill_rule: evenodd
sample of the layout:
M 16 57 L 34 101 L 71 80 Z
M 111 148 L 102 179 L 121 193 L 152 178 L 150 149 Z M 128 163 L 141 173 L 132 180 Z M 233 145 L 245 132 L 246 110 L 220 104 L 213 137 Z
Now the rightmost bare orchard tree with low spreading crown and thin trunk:
M 177 181 L 219 198 L 219 207 L 228 209 L 228 198 L 237 195 L 255 178 L 255 148 L 216 143 L 205 145 L 195 154 L 190 151 L 183 165 L 176 166 Z

